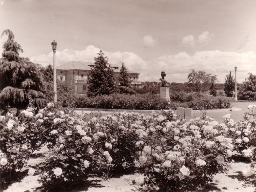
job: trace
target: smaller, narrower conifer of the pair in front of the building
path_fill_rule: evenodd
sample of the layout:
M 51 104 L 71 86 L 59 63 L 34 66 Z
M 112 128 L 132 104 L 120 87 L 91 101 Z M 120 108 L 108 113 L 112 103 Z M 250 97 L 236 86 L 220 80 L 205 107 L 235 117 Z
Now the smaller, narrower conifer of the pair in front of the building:
M 118 76 L 118 92 L 125 94 L 136 94 L 136 91 L 131 89 L 131 81 L 129 79 L 128 70 L 122 63 L 120 73 Z

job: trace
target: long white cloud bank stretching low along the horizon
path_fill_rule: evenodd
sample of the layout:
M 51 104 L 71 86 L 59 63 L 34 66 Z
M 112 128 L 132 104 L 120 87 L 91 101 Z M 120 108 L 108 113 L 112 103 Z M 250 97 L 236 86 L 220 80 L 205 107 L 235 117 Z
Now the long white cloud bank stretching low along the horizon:
M 94 57 L 97 57 L 98 51 L 99 48 L 94 45 L 89 45 L 81 51 L 64 49 L 63 51 L 57 51 L 56 61 L 57 64 L 73 60 L 94 62 Z M 248 73 L 255 68 L 256 63 L 254 52 L 236 53 L 215 50 L 198 51 L 194 55 L 180 52 L 175 55 L 163 55 L 151 60 L 145 60 L 132 52 L 108 52 L 105 50 L 103 52 L 112 65 L 120 67 L 121 63 L 124 62 L 129 71 L 140 73 L 140 81 L 158 82 L 161 71 L 165 71 L 168 82 L 186 82 L 190 70 L 195 69 L 217 75 L 218 81 L 223 83 L 229 71 L 234 74 L 234 67 L 237 66 L 237 82 L 239 83 L 248 77 Z M 44 66 L 51 64 L 52 60 L 52 52 L 31 58 L 31 61 L 41 63 Z

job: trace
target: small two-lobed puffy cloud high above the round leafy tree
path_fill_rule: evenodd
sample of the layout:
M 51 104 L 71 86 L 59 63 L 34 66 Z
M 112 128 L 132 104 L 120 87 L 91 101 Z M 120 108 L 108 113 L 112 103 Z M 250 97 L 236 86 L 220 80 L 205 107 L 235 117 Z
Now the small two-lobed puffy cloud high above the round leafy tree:
M 180 44 L 186 47 L 205 46 L 211 42 L 213 37 L 214 34 L 210 34 L 208 31 L 204 31 L 198 36 L 197 39 L 195 39 L 193 35 L 188 35 L 182 38 Z

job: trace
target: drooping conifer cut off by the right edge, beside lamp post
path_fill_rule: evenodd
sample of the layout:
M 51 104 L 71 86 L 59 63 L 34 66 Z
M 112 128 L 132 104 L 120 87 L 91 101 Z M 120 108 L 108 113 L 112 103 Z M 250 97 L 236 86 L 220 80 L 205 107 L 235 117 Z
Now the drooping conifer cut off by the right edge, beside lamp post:
M 247 80 L 240 85 L 238 98 L 242 100 L 256 100 L 256 75 L 249 73 Z

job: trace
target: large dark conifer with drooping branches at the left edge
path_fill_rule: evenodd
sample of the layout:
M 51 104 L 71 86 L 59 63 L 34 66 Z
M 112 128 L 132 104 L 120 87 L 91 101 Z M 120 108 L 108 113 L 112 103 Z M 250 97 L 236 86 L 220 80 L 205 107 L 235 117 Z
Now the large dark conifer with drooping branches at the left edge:
M 3 44 L 0 59 L 0 108 L 26 108 L 28 105 L 41 107 L 46 99 L 43 94 L 43 76 L 39 67 L 28 58 L 21 58 L 20 44 L 14 41 L 14 34 L 4 30 L 1 37 L 8 38 Z

